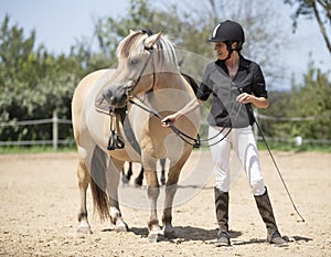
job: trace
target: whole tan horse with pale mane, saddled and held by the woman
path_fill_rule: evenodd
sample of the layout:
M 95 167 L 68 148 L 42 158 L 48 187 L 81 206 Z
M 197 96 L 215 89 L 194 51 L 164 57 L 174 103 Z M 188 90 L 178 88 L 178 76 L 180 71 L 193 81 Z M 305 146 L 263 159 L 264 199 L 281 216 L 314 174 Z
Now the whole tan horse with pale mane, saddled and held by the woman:
M 193 149 L 192 138 L 197 136 L 200 111 L 181 117 L 175 129 L 163 128 L 160 120 L 183 108 L 195 95 L 179 71 L 175 45 L 162 32 L 130 31 L 118 44 L 117 60 L 117 68 L 99 69 L 85 76 L 72 99 L 81 192 L 77 231 L 92 233 L 86 208 L 88 185 L 100 219 L 109 218 L 117 232 L 129 229 L 118 197 L 120 171 L 129 161 L 140 162 L 145 169 L 149 240 L 172 238 L 175 237 L 172 226 L 173 197 L 180 172 Z M 107 104 L 109 114 L 96 108 L 99 96 Z M 121 108 L 126 109 L 122 111 L 125 118 L 116 111 Z M 125 131 L 126 124 L 130 127 L 129 136 Z M 183 140 L 178 131 L 184 131 L 189 138 Z M 167 159 L 170 163 L 162 226 L 157 206 L 160 194 L 157 162 L 160 159 Z

